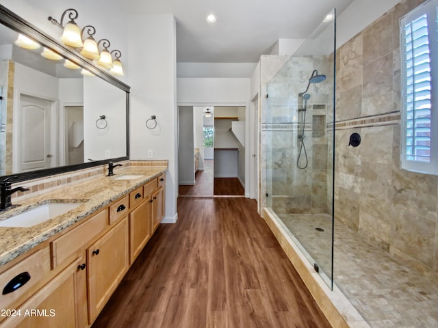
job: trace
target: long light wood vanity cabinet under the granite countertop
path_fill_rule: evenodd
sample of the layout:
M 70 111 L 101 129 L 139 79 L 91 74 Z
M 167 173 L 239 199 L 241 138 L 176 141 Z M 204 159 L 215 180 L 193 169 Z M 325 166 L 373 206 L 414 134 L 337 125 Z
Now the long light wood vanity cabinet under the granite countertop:
M 0 309 L 45 314 L 0 317 L 0 328 L 90 327 L 162 221 L 164 179 L 146 182 L 0 267 L 1 288 L 31 275 L 23 287 L 0 295 Z

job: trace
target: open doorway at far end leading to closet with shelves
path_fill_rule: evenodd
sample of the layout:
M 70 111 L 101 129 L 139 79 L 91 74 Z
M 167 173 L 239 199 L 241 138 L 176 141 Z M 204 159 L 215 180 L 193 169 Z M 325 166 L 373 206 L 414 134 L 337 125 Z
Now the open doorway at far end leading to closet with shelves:
M 179 107 L 181 197 L 244 197 L 245 111 L 246 107 Z

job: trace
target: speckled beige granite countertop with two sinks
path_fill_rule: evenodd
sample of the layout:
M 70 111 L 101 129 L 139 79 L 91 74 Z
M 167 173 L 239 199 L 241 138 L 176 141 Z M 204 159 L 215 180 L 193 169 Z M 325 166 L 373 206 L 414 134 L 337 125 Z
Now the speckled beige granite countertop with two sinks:
M 77 208 L 30 228 L 0 227 L 0 265 L 6 264 L 32 247 L 46 241 L 69 226 L 99 210 L 110 202 L 127 195 L 144 182 L 166 172 L 164 167 L 130 167 L 118 169 L 114 176 L 101 176 L 63 189 L 31 197 L 21 206 L 0 213 L 0 220 L 7 219 L 44 202 L 83 202 Z M 141 175 L 136 180 L 115 180 L 123 175 Z M 25 184 L 23 184 L 25 185 Z

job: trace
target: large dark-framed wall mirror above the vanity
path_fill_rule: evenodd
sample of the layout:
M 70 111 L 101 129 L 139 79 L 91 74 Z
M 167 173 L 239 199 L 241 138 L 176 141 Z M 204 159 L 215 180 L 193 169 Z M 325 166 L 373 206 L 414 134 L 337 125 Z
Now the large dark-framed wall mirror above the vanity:
M 2 5 L 0 23 L 0 179 L 129 159 L 129 86 Z M 20 34 L 40 47 L 17 46 Z

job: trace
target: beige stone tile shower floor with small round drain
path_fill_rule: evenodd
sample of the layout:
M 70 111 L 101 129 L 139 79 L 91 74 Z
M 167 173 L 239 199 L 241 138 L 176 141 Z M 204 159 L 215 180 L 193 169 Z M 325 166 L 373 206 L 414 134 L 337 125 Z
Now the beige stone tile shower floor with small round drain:
M 328 268 L 331 247 L 318 243 L 330 244 L 329 215 L 279 217 L 313 260 Z M 438 327 L 438 273 L 409 266 L 338 221 L 334 254 L 334 282 L 370 327 Z

